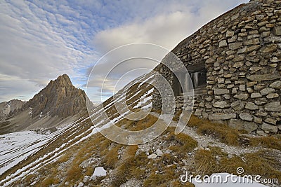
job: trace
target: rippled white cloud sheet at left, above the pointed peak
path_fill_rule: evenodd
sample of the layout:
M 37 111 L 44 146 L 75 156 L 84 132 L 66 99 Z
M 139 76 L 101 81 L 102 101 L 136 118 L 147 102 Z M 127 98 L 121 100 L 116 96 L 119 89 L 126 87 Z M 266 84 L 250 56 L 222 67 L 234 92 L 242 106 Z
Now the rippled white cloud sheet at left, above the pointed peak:
M 0 7 L 0 74 L 6 76 L 0 80 L 0 102 L 14 93 L 30 97 L 61 74 L 69 74 L 72 80 L 84 78 L 77 70 L 86 69 L 91 62 L 84 59 L 90 60 L 92 55 L 79 41 L 84 32 L 72 35 L 72 31 L 79 31 L 79 22 L 28 1 L 2 2 Z M 64 12 L 71 13 L 68 9 Z M 13 83 L 20 80 L 25 88 Z

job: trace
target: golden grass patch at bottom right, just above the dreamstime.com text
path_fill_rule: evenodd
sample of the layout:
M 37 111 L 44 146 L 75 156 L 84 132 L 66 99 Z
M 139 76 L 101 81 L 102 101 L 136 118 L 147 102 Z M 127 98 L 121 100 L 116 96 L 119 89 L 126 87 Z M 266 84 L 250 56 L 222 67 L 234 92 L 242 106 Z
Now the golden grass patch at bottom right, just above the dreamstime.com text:
M 221 159 L 216 160 L 216 155 Z M 243 158 L 243 159 L 242 159 Z M 219 148 L 210 150 L 200 149 L 195 153 L 195 166 L 201 175 L 216 172 L 228 172 L 237 174 L 237 167 L 244 168 L 244 174 L 260 175 L 263 178 L 277 178 L 281 180 L 281 163 L 270 151 L 258 151 L 256 153 L 245 153 L 244 155 L 228 158 Z

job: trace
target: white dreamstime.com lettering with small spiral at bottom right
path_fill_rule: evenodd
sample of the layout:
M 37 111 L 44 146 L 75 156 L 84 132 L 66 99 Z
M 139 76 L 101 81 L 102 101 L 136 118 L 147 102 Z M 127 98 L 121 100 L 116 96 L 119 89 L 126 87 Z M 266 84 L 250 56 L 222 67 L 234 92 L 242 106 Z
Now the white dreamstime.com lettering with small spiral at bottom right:
M 242 175 L 244 173 L 243 167 L 237 167 L 238 175 L 235 174 L 211 174 L 201 176 L 199 174 L 192 175 L 185 172 L 181 175 L 180 181 L 182 183 L 278 183 L 278 179 L 265 179 L 260 175 Z

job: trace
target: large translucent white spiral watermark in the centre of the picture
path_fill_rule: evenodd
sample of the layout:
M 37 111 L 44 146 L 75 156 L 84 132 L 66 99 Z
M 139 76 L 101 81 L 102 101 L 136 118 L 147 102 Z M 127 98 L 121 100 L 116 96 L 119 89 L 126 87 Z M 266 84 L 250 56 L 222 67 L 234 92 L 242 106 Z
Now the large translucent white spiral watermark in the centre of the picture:
M 86 85 L 86 92 L 90 97 L 86 98 L 89 116 L 93 125 L 96 127 L 96 124 L 98 123 L 96 113 L 98 113 L 98 118 L 103 120 L 103 126 L 105 126 L 107 130 L 104 130 L 103 127 L 96 129 L 107 137 L 107 139 L 126 145 L 144 144 L 159 137 L 159 135 L 170 125 L 176 109 L 174 91 L 173 88 L 171 88 L 171 84 L 161 72 L 154 71 L 155 66 L 152 66 L 151 64 L 161 64 L 165 69 L 169 69 L 172 76 L 174 74 L 178 79 L 178 82 L 183 89 L 183 112 L 176 125 L 175 133 L 180 133 L 185 128 L 185 125 L 187 125 L 194 103 L 193 84 L 188 69 L 186 69 L 183 62 L 181 62 L 174 53 L 162 46 L 157 46 L 151 43 L 132 43 L 115 48 L 101 57 L 89 74 L 89 79 Z M 113 91 L 114 93 L 117 93 L 113 95 L 113 99 L 110 102 L 110 104 L 113 103 L 115 106 L 114 110 L 110 111 L 110 109 L 113 109 L 113 105 L 110 104 L 101 104 L 98 106 L 98 109 L 92 107 L 90 100 L 93 91 L 91 89 L 95 86 L 97 87 L 97 81 L 101 81 L 99 85 L 99 87 L 101 86 L 101 88 L 99 88 L 100 101 L 103 102 L 103 98 L 108 97 L 108 90 L 117 88 L 117 83 L 124 83 L 128 74 L 139 76 L 144 69 L 150 73 L 133 80 L 119 92 L 116 92 L 115 90 Z M 184 76 L 182 76 L 183 74 Z M 113 80 L 116 82 L 115 85 L 112 85 Z M 139 85 L 148 83 L 159 92 L 162 102 L 162 112 L 158 120 L 145 130 L 124 130 L 115 125 L 118 119 L 126 118 L 136 121 L 145 118 L 150 113 L 150 110 L 148 109 L 131 111 L 130 106 L 127 105 L 126 92 L 129 90 L 130 85 L 136 83 L 139 83 Z M 187 83 L 188 87 L 186 86 Z M 135 92 L 138 91 L 139 90 L 135 90 Z M 115 110 L 117 113 L 115 113 Z M 117 117 L 112 119 L 114 116 Z M 120 118 L 118 116 L 120 116 Z M 162 120 L 165 121 L 164 125 Z

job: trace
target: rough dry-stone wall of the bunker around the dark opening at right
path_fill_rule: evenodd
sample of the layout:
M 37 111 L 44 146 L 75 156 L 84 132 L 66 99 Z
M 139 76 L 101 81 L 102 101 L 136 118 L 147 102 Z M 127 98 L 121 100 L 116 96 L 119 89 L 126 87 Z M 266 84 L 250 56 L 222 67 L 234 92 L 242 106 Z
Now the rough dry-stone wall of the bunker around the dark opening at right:
M 206 94 L 195 99 L 196 116 L 227 120 L 230 126 L 258 134 L 280 132 L 280 15 L 281 1 L 250 1 L 204 25 L 172 50 L 188 69 L 207 69 Z M 173 66 L 177 69 L 178 64 Z M 159 65 L 155 70 L 173 85 L 168 68 Z M 155 92 L 155 108 L 160 100 Z M 178 109 L 181 101 L 176 98 Z

